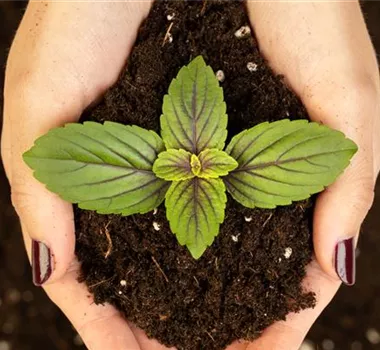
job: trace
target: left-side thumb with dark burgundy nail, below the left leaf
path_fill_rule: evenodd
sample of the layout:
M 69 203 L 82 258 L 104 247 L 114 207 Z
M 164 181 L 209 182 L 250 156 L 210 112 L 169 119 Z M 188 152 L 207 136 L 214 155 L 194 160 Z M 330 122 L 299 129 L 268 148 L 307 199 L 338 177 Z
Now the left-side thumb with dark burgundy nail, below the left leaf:
M 61 279 L 74 260 L 71 204 L 49 193 L 35 180 L 12 184 L 12 203 L 20 217 L 36 286 Z

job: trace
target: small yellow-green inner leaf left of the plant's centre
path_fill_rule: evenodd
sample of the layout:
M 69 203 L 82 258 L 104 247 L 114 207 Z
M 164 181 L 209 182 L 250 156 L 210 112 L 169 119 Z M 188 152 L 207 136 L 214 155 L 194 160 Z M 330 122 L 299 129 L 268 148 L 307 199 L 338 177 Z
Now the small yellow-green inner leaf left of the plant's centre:
M 191 153 L 183 149 L 169 149 L 158 155 L 153 172 L 167 181 L 187 180 L 194 177 L 191 169 Z

